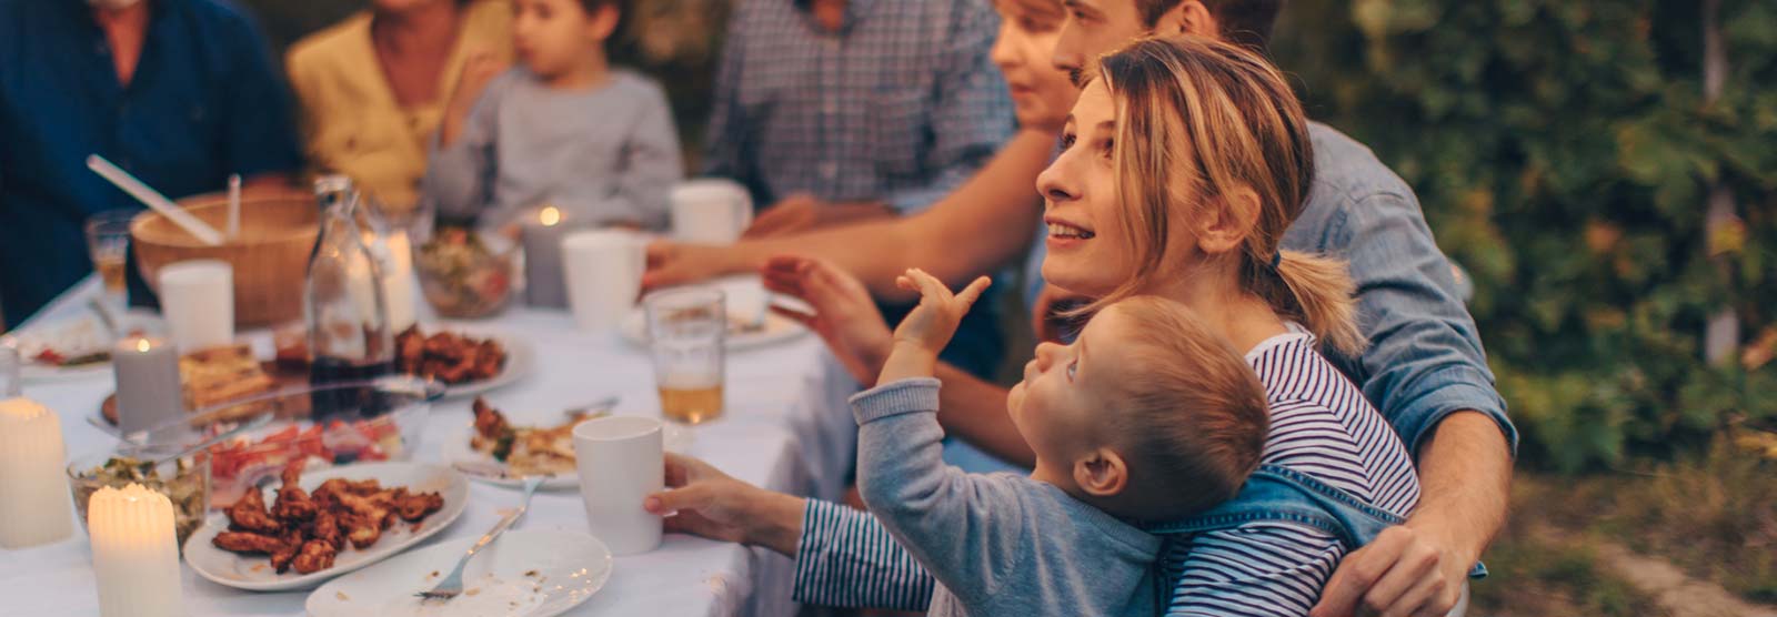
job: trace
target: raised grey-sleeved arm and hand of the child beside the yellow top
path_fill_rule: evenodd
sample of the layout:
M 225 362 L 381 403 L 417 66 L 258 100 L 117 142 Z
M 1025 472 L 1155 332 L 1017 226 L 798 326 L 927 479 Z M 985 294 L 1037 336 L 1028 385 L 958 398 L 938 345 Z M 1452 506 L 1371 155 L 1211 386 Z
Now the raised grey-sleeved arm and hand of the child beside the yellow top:
M 462 135 L 448 147 L 439 147 L 439 133 L 426 144 L 426 176 L 419 191 L 437 206 L 442 216 L 476 216 L 492 202 L 494 142 L 499 137 L 499 99 L 512 85 L 514 74 L 503 73 L 487 83 L 482 98 L 464 121 Z

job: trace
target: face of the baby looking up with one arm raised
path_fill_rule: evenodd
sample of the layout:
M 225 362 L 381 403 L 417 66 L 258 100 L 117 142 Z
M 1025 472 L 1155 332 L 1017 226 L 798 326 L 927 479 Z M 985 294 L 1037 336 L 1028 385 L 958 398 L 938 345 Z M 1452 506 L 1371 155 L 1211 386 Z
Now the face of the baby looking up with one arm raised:
M 1073 486 L 1075 459 L 1105 445 L 1109 394 L 1116 379 L 1130 378 L 1120 349 L 1127 330 L 1112 305 L 1073 344 L 1040 344 L 1036 360 L 1024 365 L 1024 381 L 1008 394 L 1006 411 L 1036 452 L 1040 479 Z

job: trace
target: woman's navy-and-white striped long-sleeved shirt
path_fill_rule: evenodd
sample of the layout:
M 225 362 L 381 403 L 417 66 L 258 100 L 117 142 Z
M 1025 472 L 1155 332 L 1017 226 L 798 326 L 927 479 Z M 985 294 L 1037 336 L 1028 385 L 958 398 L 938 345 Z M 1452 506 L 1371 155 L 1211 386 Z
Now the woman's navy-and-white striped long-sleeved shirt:
M 1406 518 L 1413 461 L 1363 394 L 1299 326 L 1247 353 L 1271 401 L 1263 463 L 1281 465 Z M 1169 537 L 1160 564 L 1167 615 L 1306 615 L 1338 560 L 1338 537 L 1281 521 Z M 867 512 L 809 500 L 794 597 L 807 605 L 926 610 L 933 580 Z

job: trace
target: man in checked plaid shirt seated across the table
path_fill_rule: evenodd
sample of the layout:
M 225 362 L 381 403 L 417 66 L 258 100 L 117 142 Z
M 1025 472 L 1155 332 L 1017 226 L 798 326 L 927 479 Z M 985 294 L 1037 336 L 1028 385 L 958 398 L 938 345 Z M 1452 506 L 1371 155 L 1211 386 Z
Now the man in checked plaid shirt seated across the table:
M 737 0 L 704 174 L 771 204 L 748 236 L 919 211 L 1011 137 L 986 0 Z

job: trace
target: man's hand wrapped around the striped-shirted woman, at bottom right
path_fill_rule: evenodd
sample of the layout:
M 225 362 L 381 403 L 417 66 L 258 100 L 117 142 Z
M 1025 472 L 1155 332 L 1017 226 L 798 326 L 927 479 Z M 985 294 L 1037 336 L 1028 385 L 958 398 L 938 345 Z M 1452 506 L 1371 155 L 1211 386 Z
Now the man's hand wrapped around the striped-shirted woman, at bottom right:
M 1455 539 L 1395 525 L 1345 555 L 1310 617 L 1365 615 L 1443 617 L 1462 596 L 1475 564 Z

